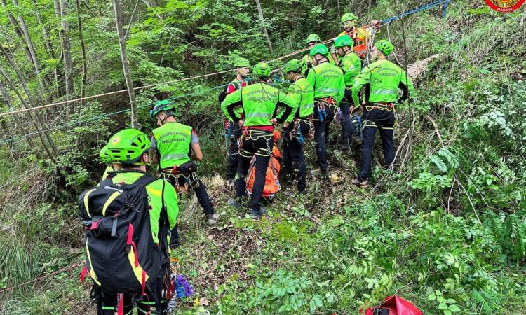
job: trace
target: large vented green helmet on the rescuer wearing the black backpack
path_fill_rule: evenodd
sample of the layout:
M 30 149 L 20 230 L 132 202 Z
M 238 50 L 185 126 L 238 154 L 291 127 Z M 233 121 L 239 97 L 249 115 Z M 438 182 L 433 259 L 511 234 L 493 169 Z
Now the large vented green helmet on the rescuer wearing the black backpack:
M 150 139 L 144 132 L 136 129 L 124 129 L 109 139 L 107 150 L 112 162 L 136 164 L 142 153 L 150 148 Z

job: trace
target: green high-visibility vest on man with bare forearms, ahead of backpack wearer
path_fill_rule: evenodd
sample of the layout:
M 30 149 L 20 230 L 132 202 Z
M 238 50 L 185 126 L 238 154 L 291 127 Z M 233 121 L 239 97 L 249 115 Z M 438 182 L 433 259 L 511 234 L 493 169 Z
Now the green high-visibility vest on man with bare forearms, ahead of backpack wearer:
M 161 169 L 180 166 L 190 161 L 191 127 L 180 123 L 166 123 L 154 129 Z

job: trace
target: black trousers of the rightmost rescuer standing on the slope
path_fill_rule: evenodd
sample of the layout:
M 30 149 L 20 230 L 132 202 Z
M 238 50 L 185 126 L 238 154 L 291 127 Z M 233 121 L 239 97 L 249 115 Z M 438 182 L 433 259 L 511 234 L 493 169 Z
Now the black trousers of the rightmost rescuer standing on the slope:
M 382 109 L 372 109 L 365 111 L 362 121 L 365 121 L 363 128 L 362 141 L 362 167 L 358 174 L 360 181 L 371 179 L 371 155 L 372 148 L 375 145 L 375 134 L 379 130 L 380 139 L 382 139 L 382 149 L 384 151 L 384 168 L 387 168 L 394 160 L 393 145 L 393 126 L 395 115 L 393 111 Z

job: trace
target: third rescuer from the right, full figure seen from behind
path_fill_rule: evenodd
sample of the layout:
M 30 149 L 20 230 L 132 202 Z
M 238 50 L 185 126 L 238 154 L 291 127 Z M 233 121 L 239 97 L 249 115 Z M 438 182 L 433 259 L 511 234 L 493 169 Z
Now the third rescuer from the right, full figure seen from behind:
M 330 64 L 329 50 L 323 44 L 311 48 L 313 69 L 309 71 L 306 80 L 314 90 L 314 140 L 316 141 L 316 155 L 318 157 L 318 172 L 311 172 L 313 176 L 326 177 L 329 175 L 327 160 L 327 143 L 329 126 L 335 118 L 344 97 L 345 83 L 342 70 Z

